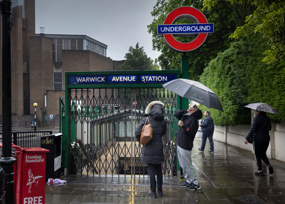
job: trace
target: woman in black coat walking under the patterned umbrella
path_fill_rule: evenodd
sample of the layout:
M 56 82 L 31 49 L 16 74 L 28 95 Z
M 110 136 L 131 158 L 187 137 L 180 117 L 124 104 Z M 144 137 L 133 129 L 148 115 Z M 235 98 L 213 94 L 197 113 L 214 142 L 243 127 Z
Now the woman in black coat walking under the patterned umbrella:
M 270 142 L 269 131 L 271 130 L 271 121 L 263 111 L 254 110 L 254 114 L 255 117 L 244 143 L 248 144 L 248 139 L 252 138 L 255 162 L 258 168 L 258 171 L 254 174 L 257 176 L 263 176 L 261 160 L 263 160 L 267 165 L 269 174 L 274 172 L 273 167 L 270 165 L 266 156 L 266 151 Z

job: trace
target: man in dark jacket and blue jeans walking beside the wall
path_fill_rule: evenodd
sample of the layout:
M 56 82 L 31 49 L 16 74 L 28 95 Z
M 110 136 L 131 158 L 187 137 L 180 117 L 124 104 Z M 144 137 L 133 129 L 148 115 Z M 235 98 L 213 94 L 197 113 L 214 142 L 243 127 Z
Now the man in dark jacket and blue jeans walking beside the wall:
M 210 150 L 209 153 L 214 153 L 214 142 L 213 142 L 213 134 L 214 134 L 214 120 L 210 116 L 209 111 L 205 111 L 204 113 L 205 119 L 203 124 L 199 124 L 199 127 L 202 127 L 202 145 L 201 148 L 198 148 L 200 151 L 204 152 L 207 138 L 210 142 Z

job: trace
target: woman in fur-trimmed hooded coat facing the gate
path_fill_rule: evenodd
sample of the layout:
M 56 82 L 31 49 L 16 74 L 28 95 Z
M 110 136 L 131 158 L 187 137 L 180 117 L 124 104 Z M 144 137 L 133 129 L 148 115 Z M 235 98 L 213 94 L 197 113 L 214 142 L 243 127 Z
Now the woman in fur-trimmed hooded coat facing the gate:
M 151 192 L 149 196 L 156 198 L 156 180 L 157 177 L 157 195 L 162 196 L 162 165 L 164 164 L 164 151 L 162 136 L 166 133 L 166 119 L 164 118 L 164 104 L 160 101 L 153 101 L 145 109 L 145 117 L 140 121 L 136 128 L 135 136 L 140 142 L 140 133 L 145 125 L 146 117 L 153 128 L 151 141 L 143 145 L 140 161 L 148 164 L 149 180 Z M 146 122 L 148 125 L 148 122 Z

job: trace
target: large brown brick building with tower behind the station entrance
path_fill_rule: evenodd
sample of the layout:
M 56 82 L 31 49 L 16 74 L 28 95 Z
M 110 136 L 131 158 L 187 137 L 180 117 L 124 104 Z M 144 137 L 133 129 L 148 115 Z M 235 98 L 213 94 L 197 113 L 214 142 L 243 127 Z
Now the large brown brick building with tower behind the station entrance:
M 85 35 L 44 34 L 44 28 L 35 34 L 35 0 L 12 0 L 12 20 L 12 121 L 34 120 L 37 103 L 37 121 L 57 126 L 66 71 L 112 71 L 124 62 L 108 58 L 107 45 Z

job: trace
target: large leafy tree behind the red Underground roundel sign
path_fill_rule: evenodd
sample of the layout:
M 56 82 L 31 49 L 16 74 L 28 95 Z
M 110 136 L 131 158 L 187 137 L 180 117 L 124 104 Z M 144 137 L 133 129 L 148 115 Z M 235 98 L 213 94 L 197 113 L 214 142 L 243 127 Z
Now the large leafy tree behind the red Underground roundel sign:
M 163 70 L 181 69 L 181 54 L 170 50 L 163 38 L 157 37 L 157 25 L 163 24 L 166 16 L 175 8 L 181 6 L 192 6 L 202 9 L 202 1 L 199 0 L 158 0 L 151 15 L 154 20 L 148 25 L 148 32 L 152 34 L 153 49 L 159 50 L 162 54 L 156 60 Z M 223 2 L 211 9 L 204 11 L 208 22 L 214 23 L 214 33 L 207 37 L 205 42 L 196 50 L 189 53 L 189 79 L 198 80 L 203 69 L 208 66 L 210 60 L 214 59 L 219 52 L 223 52 L 233 42 L 228 38 L 230 34 L 243 25 L 243 19 L 252 13 L 253 7 L 235 5 Z M 193 23 L 188 19 L 181 19 L 175 23 Z M 180 42 L 191 42 L 193 37 L 175 37 Z

